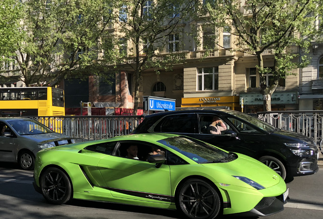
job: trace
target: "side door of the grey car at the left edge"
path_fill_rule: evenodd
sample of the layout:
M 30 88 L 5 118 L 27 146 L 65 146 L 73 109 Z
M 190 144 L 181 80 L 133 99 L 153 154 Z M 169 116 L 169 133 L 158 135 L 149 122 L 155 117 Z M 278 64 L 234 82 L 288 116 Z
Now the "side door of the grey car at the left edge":
M 16 137 L 12 130 L 4 123 L 0 123 L 1 127 L 5 127 L 4 132 L 0 135 L 0 160 L 16 161 Z

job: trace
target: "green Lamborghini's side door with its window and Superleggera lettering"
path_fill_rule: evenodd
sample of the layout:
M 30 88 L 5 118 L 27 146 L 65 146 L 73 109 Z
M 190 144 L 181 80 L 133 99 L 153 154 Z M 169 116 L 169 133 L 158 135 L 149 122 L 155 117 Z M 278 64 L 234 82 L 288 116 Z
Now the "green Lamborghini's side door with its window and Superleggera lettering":
M 138 146 L 139 159 L 126 158 L 125 145 Z M 171 202 L 170 168 L 146 161 L 144 154 L 151 151 L 150 145 L 138 142 L 120 142 L 116 156 L 109 156 L 99 161 L 102 177 L 107 189 L 114 197 L 154 202 Z

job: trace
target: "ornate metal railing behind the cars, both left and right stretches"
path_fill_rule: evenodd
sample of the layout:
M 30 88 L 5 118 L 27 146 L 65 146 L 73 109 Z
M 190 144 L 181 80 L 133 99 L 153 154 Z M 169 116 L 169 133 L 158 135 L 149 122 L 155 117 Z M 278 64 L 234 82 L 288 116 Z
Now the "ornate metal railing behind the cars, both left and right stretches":
M 323 139 L 323 111 L 271 111 L 253 114 L 277 128 Z M 52 130 L 83 140 L 130 134 L 144 119 L 142 116 L 64 116 L 34 117 Z

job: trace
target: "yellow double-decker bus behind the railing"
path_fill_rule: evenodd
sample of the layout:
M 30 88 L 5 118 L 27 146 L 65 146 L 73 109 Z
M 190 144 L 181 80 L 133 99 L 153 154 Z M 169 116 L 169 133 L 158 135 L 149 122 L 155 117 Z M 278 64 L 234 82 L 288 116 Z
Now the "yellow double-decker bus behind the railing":
M 64 91 L 52 87 L 0 88 L 0 116 L 65 116 Z

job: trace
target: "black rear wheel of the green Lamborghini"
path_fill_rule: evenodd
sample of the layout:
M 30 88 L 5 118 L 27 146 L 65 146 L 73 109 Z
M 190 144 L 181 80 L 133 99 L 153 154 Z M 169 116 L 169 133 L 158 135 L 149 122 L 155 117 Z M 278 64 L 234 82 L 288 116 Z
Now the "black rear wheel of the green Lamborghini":
M 46 201 L 51 204 L 64 204 L 72 198 L 69 177 L 56 167 L 48 168 L 41 175 L 40 188 Z

